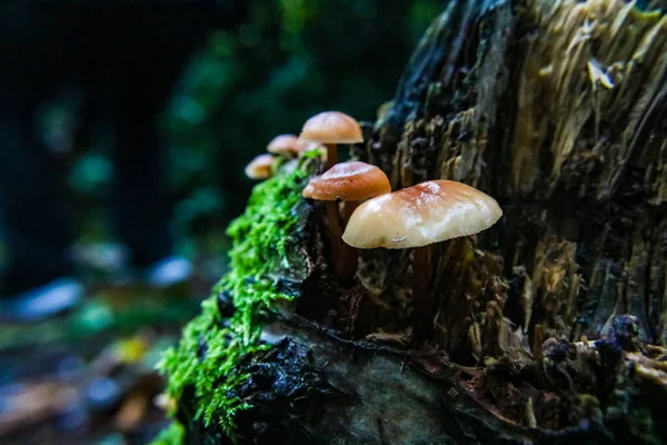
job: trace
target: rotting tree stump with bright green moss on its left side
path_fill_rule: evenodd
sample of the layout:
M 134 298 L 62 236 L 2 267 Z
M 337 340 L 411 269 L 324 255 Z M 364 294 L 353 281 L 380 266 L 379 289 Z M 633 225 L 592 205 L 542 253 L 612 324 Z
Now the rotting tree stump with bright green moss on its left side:
M 300 198 L 321 166 L 285 165 L 165 359 L 173 437 L 667 443 L 665 7 L 449 1 L 354 147 L 394 189 L 454 179 L 504 208 L 431 248 L 432 336 L 412 338 L 411 251 L 361 251 L 337 284 Z

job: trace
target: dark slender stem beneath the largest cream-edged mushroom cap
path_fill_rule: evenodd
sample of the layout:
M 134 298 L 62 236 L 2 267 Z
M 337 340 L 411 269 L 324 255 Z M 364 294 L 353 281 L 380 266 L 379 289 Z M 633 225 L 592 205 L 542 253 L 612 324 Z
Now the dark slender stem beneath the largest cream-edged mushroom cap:
M 412 338 L 418 343 L 432 334 L 435 305 L 431 300 L 429 248 L 417 247 L 412 255 Z

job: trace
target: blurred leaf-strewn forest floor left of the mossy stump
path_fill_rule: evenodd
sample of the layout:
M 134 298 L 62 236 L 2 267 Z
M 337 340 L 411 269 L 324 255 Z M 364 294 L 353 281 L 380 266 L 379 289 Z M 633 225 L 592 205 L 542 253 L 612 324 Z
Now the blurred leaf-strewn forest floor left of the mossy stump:
M 167 425 L 165 382 L 155 366 L 199 312 L 210 285 L 195 278 L 156 293 L 92 278 L 84 303 L 69 313 L 4 324 L 0 443 L 150 442 Z

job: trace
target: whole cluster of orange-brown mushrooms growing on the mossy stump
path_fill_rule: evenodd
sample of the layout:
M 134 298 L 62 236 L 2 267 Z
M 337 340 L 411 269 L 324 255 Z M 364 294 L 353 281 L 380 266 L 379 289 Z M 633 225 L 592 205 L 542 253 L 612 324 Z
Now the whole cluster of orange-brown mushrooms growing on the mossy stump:
M 461 182 L 429 180 L 391 191 L 387 175 L 378 167 L 361 161 L 337 162 L 337 145 L 362 141 L 357 120 L 326 111 L 310 118 L 298 138 L 276 137 L 268 151 L 298 156 L 315 147 L 326 148 L 326 171 L 310 179 L 303 197 L 325 201 L 331 263 L 340 284 L 354 280 L 359 249 L 415 249 L 412 332 L 415 340 L 422 340 L 430 335 L 436 309 L 428 246 L 488 229 L 500 219 L 502 210 L 494 198 Z M 272 162 L 272 155 L 260 155 L 246 172 L 249 177 L 268 177 Z

